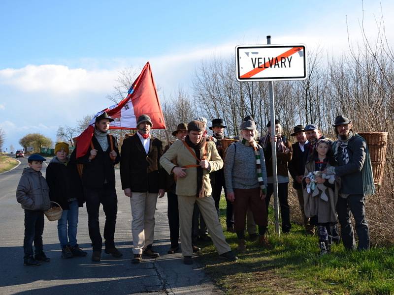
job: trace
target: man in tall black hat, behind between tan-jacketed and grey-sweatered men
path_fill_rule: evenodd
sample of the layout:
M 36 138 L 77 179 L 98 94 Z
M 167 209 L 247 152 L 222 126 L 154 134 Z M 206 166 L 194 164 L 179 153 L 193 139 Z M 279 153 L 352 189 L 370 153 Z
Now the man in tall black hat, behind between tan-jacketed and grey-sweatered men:
M 217 118 L 212 120 L 212 126 L 209 127 L 210 130 L 213 131 L 213 138 L 216 139 L 216 148 L 219 152 L 220 157 L 223 159 L 223 152 L 224 149 L 221 146 L 221 139 L 224 139 L 224 128 L 226 125 L 223 122 L 223 119 Z M 222 188 L 225 190 L 225 199 L 226 199 L 226 225 L 227 231 L 234 233 L 234 221 L 232 220 L 232 204 L 227 200 L 227 193 L 226 193 L 226 184 L 225 184 L 225 177 L 223 168 L 213 172 L 211 175 L 211 185 L 212 185 L 212 197 L 215 200 L 215 207 L 216 211 L 218 211 L 218 217 L 220 217 L 220 210 L 219 210 L 219 202 L 220 196 L 222 194 Z

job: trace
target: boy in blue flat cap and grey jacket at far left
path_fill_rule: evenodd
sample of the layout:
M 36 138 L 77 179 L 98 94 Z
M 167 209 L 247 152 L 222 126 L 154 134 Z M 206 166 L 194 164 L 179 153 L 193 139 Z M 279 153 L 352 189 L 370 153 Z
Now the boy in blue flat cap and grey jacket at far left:
M 32 154 L 28 158 L 29 167 L 23 169 L 22 177 L 16 189 L 16 200 L 25 209 L 25 238 L 23 240 L 25 266 L 39 266 L 41 262 L 50 261 L 42 248 L 44 211 L 51 207 L 49 188 L 40 172 L 43 161 L 46 161 L 46 159 L 39 154 Z

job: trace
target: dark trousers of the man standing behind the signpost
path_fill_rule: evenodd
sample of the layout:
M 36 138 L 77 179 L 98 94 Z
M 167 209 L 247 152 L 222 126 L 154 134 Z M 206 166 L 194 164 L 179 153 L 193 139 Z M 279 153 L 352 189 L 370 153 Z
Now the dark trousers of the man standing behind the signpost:
M 282 231 L 284 233 L 290 232 L 292 225 L 290 224 L 290 207 L 288 202 L 288 186 L 289 182 L 286 183 L 278 183 L 278 199 L 280 205 L 280 215 L 282 219 Z M 271 200 L 271 195 L 274 192 L 274 186 L 272 183 L 268 183 L 267 185 L 267 195 L 265 196 L 265 206 L 267 208 L 268 214 L 268 207 L 269 201 Z

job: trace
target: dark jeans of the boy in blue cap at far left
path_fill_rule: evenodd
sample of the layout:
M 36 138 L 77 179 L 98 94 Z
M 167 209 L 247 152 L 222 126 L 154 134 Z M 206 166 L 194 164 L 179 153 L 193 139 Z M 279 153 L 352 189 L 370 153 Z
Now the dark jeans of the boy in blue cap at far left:
M 42 233 L 44 232 L 44 212 L 25 210 L 25 238 L 23 251 L 25 257 L 33 255 L 33 242 L 35 254 L 42 252 Z

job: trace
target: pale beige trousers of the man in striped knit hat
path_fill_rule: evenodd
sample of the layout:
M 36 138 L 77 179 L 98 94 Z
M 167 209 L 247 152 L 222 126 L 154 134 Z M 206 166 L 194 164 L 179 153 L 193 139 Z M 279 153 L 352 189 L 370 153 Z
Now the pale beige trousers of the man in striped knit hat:
M 142 250 L 153 244 L 157 193 L 132 192 L 131 194 L 132 253 L 142 254 Z

